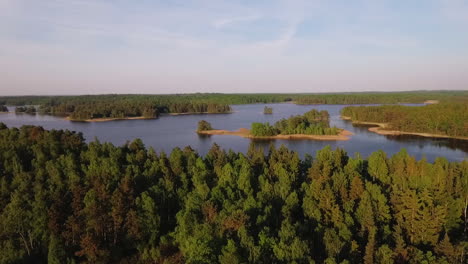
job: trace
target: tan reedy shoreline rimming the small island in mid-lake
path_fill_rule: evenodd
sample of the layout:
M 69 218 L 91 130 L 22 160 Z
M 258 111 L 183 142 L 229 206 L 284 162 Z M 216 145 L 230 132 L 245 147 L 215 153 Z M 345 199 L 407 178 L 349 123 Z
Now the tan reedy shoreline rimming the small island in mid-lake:
M 240 128 L 237 131 L 229 131 L 229 130 L 221 130 L 221 129 L 214 129 L 214 130 L 203 130 L 197 131 L 198 134 L 202 135 L 232 135 L 232 136 L 240 136 L 244 138 L 252 138 L 252 139 L 309 139 L 309 140 L 348 140 L 349 136 L 353 133 L 348 130 L 343 130 L 338 135 L 306 135 L 306 134 L 294 134 L 294 135 L 276 135 L 276 136 L 269 136 L 269 137 L 255 137 L 250 134 L 250 130 L 247 128 Z

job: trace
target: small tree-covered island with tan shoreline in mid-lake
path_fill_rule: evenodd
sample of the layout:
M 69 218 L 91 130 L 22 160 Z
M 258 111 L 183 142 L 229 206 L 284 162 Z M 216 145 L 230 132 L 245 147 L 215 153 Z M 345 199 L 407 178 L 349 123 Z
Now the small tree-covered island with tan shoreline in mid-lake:
M 252 123 L 251 129 L 237 131 L 213 129 L 211 124 L 202 120 L 198 123 L 197 133 L 204 135 L 234 135 L 253 139 L 311 139 L 311 140 L 348 140 L 352 133 L 337 127 L 330 127 L 327 111 L 312 109 L 304 115 L 281 119 L 274 125 Z

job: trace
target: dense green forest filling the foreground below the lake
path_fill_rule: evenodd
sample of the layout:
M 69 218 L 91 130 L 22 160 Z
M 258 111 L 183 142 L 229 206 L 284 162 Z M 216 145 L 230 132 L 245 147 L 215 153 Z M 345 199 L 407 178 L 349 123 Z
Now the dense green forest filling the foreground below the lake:
M 468 161 L 0 124 L 0 263 L 466 263 Z

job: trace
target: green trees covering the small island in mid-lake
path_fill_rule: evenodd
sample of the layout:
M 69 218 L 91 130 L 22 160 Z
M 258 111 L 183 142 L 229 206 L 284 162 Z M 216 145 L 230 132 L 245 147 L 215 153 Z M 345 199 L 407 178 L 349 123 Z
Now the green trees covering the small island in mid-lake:
M 276 135 L 337 135 L 341 130 L 330 127 L 328 111 L 312 109 L 303 115 L 283 118 L 273 126 L 270 123 L 252 123 L 250 133 L 256 137 Z

